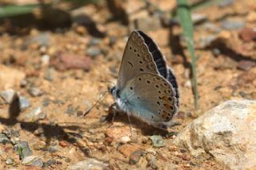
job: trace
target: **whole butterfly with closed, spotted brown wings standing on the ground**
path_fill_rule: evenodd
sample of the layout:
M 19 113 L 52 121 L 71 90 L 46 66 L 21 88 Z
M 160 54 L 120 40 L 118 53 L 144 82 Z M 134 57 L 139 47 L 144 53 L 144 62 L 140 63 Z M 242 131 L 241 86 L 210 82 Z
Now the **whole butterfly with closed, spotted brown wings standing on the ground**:
M 117 85 L 110 89 L 115 110 L 165 129 L 178 113 L 179 93 L 174 72 L 158 45 L 141 30 L 126 43 Z

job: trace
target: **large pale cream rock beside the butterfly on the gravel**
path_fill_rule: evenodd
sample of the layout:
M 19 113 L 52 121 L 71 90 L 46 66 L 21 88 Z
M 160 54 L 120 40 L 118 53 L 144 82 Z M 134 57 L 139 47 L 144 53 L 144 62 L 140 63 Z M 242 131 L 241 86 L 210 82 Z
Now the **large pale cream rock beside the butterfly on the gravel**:
M 213 156 L 230 169 L 256 169 L 256 101 L 226 101 L 174 140 L 193 156 Z

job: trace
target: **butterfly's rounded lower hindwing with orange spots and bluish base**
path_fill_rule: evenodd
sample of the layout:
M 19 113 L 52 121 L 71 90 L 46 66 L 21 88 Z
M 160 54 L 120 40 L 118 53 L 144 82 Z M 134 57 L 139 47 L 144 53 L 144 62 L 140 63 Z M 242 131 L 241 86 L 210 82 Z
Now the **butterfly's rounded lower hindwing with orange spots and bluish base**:
M 121 93 L 128 113 L 158 128 L 178 113 L 175 89 L 158 74 L 138 74 Z

